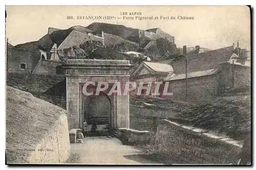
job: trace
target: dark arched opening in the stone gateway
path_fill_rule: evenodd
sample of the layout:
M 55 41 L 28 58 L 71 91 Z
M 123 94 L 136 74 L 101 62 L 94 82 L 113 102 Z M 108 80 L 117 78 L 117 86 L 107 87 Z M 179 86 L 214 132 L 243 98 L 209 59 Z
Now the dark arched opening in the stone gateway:
M 111 133 L 111 102 L 105 93 L 85 96 L 83 100 L 83 133 L 104 136 Z

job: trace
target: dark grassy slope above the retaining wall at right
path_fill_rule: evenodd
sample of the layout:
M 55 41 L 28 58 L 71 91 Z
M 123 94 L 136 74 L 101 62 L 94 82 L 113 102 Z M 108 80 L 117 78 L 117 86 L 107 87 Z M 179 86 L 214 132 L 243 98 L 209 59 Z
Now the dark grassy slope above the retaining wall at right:
M 183 110 L 171 119 L 243 140 L 251 129 L 251 95 L 248 92 L 225 95 Z

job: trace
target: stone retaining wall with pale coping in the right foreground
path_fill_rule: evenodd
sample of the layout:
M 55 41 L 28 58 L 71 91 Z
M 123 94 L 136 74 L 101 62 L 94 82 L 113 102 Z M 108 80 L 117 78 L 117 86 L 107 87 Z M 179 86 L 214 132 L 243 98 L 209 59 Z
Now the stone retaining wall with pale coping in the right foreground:
M 242 145 L 205 130 L 159 120 L 155 149 L 170 159 L 193 164 L 237 164 Z

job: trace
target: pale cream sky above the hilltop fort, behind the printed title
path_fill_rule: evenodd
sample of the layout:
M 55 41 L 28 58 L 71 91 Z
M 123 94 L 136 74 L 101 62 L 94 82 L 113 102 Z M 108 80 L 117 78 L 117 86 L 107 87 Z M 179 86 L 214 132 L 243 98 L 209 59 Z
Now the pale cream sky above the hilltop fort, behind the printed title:
M 127 15 L 122 15 L 125 12 Z M 67 19 L 68 16 L 74 19 Z M 116 18 L 93 20 L 76 19 L 77 16 Z M 130 19 L 123 19 L 124 16 Z M 139 20 L 136 16 L 153 18 Z M 170 19 L 171 16 L 176 19 Z M 180 20 L 178 16 L 194 19 Z M 177 47 L 200 45 L 214 50 L 233 43 L 236 46 L 239 40 L 240 47 L 250 50 L 250 10 L 246 6 L 7 6 L 6 37 L 16 45 L 39 40 L 49 27 L 87 27 L 93 22 L 118 23 L 141 30 L 160 28 L 175 37 Z

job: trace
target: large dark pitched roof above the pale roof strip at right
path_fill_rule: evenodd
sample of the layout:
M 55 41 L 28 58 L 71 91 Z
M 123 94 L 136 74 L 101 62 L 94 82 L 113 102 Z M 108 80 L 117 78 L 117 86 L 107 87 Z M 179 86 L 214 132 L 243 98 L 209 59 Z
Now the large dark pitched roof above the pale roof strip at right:
M 227 62 L 234 53 L 233 46 L 208 51 L 205 53 L 187 55 L 187 71 L 196 72 L 217 68 L 219 63 Z M 176 75 L 186 72 L 186 59 L 180 57 L 170 61 Z

